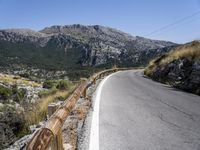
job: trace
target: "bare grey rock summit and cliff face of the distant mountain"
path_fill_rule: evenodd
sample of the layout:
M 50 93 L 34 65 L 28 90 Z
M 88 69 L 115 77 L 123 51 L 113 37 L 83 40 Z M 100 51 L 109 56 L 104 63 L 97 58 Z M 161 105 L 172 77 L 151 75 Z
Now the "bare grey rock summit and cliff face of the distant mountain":
M 121 63 L 130 62 L 133 64 L 138 62 L 134 59 L 137 57 L 137 52 L 141 54 L 141 51 L 176 45 L 172 42 L 134 37 L 119 30 L 99 25 L 52 26 L 40 32 L 47 35 L 70 35 L 83 43 L 87 43 L 88 49 L 85 49 L 86 57 L 83 57 L 82 65 L 101 65 L 114 59 Z

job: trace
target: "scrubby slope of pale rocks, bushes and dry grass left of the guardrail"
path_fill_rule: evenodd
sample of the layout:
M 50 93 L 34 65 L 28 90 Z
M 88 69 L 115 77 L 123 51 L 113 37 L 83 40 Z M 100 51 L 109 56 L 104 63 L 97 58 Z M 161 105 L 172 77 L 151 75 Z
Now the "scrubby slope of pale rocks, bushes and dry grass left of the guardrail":
M 48 104 L 66 100 L 76 86 L 63 79 L 46 80 L 41 84 L 20 76 L 0 74 L 0 133 L 3 137 L 0 149 L 28 134 L 31 125 L 47 117 Z

